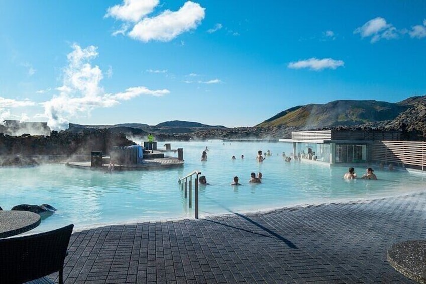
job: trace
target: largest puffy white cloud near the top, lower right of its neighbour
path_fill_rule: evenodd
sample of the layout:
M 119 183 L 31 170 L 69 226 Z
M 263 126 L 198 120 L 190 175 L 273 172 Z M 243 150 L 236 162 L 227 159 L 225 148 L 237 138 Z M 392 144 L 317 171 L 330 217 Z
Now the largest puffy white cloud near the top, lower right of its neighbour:
M 165 10 L 156 17 L 142 19 L 128 35 L 143 42 L 170 41 L 184 32 L 196 29 L 205 17 L 204 10 L 198 3 L 187 1 L 176 12 Z

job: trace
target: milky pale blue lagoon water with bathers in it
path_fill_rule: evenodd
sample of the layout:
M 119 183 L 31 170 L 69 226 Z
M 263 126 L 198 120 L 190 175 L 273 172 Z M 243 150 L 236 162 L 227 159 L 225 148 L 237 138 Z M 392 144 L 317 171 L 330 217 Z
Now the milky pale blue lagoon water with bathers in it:
M 188 208 L 178 184 L 179 177 L 193 170 L 200 170 L 210 183 L 200 186 L 200 217 L 405 195 L 426 188 L 426 175 L 421 173 L 390 172 L 372 165 L 379 180 L 348 181 L 342 178 L 347 167 L 304 161 L 287 163 L 281 154 L 284 151 L 288 155 L 292 149 L 286 143 L 170 143 L 172 149 L 184 149 L 183 167 L 113 174 L 64 164 L 0 168 L 0 206 L 8 210 L 17 204 L 48 203 L 58 209 L 31 232 L 69 223 L 79 230 L 106 224 L 194 218 L 194 208 Z M 206 146 L 208 159 L 201 161 Z M 257 163 L 257 151 L 268 149 L 272 155 Z M 235 160 L 231 159 L 233 155 Z M 263 173 L 262 183 L 249 184 L 250 173 L 259 171 Z M 361 176 L 365 166 L 355 166 L 355 172 Z M 230 185 L 235 175 L 241 186 Z

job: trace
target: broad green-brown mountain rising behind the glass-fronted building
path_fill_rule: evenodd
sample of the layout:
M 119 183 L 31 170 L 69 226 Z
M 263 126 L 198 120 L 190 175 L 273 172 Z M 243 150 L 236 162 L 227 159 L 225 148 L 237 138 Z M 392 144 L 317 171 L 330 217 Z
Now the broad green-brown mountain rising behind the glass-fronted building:
M 327 104 L 297 106 L 265 120 L 259 127 L 291 126 L 299 129 L 317 129 L 339 125 L 359 125 L 393 120 L 419 99 L 389 103 L 375 100 L 337 100 Z

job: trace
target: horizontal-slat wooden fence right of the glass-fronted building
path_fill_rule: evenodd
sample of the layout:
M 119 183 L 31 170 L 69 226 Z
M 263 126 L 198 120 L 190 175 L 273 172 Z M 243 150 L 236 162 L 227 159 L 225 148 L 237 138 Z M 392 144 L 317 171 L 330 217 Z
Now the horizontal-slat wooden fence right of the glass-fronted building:
M 426 170 L 426 142 L 374 141 L 372 160 L 384 165 Z

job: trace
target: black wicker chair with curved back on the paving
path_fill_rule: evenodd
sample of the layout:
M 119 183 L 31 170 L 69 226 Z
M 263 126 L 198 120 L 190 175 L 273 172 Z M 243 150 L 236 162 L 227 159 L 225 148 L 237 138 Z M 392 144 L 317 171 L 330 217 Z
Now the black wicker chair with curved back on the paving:
M 74 225 L 23 237 L 0 239 L 0 282 L 23 283 L 59 271 L 63 283 L 64 261 Z M 43 277 L 38 282 L 46 283 Z M 34 281 L 36 282 L 36 281 Z

